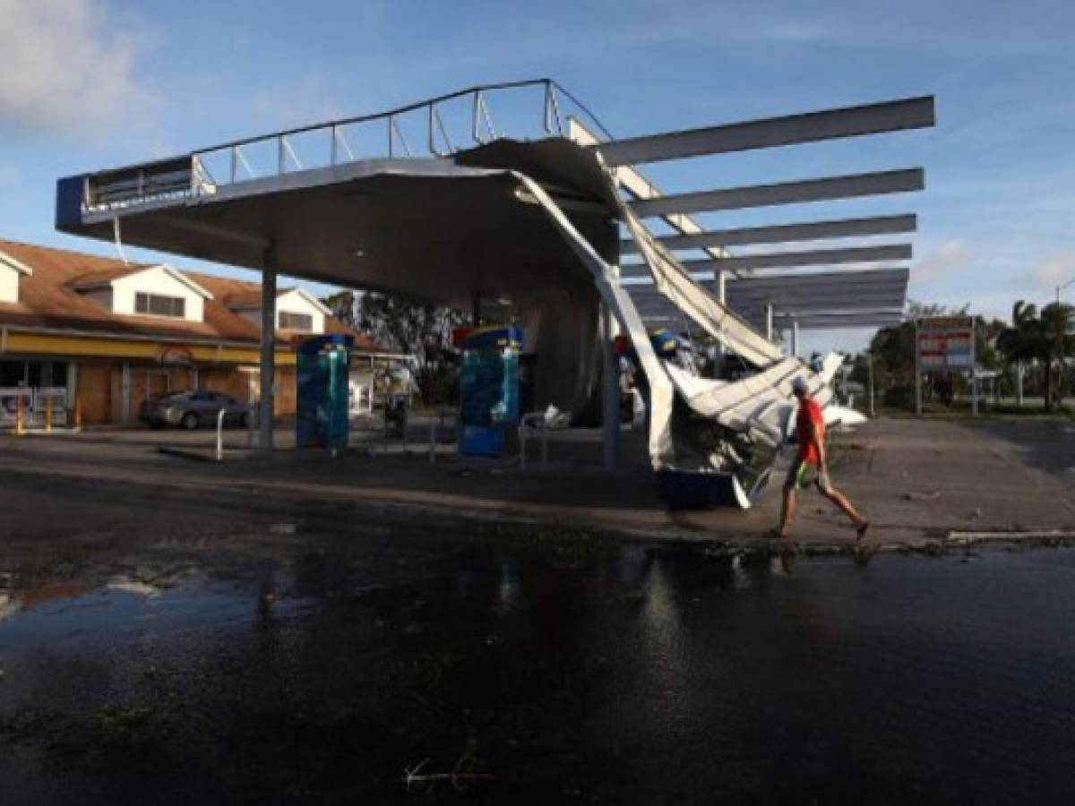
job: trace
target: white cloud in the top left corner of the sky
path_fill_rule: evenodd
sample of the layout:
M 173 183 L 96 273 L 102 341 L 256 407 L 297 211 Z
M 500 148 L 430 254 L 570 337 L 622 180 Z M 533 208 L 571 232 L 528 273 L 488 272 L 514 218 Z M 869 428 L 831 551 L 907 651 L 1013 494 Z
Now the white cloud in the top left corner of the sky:
M 85 136 L 130 126 L 152 101 L 140 49 L 99 0 L 0 0 L 0 130 Z

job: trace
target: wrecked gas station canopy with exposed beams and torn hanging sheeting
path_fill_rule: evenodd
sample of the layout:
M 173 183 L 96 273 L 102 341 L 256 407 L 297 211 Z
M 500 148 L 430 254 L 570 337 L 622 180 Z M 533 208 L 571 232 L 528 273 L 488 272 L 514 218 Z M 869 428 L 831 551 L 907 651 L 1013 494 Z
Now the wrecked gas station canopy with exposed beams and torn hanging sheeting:
M 493 123 L 492 97 L 499 103 L 504 93 L 534 91 L 541 104 L 539 136 L 503 136 Z M 569 103 L 577 114 L 563 115 L 561 106 Z M 516 118 L 522 119 L 518 114 Z M 272 444 L 272 308 L 276 276 L 283 273 L 457 307 L 474 305 L 476 319 L 483 299 L 513 300 L 528 337 L 535 340 L 531 349 L 542 361 L 535 404 L 541 408 L 555 403 L 582 421 L 591 417 L 587 413 L 600 398 L 608 466 L 617 434 L 618 389 L 611 354 L 615 319 L 629 332 L 649 379 L 654 467 L 693 467 L 701 461 L 712 471 L 725 466 L 723 460 L 714 459 L 717 454 L 692 452 L 686 447 L 691 438 L 687 434 L 672 438 L 674 394 L 722 427 L 749 433 L 751 444 L 769 444 L 778 431 L 773 418 L 787 405 L 789 378 L 813 373 L 797 358 L 782 356 L 772 339 L 774 322 L 852 327 L 887 321 L 899 316 L 906 286 L 905 270 L 878 274 L 876 280 L 857 276 L 850 285 L 835 272 L 826 275 L 828 280 L 805 284 L 793 276 L 777 284 L 769 273 L 794 269 L 798 275 L 814 267 L 906 260 L 909 243 L 844 239 L 908 233 L 916 220 L 907 213 L 860 214 L 706 230 L 691 214 L 904 193 L 924 186 L 923 172 L 902 168 L 686 188 L 665 196 L 634 164 L 933 123 L 933 99 L 927 97 L 615 139 L 550 80 L 487 85 L 376 115 L 62 178 L 56 226 L 74 234 L 262 271 L 263 447 Z M 418 143 L 416 155 L 412 144 Z M 686 241 L 661 243 L 643 224 L 646 218 L 662 220 L 675 233 L 672 239 Z M 620 269 L 621 227 L 630 232 L 645 271 Z M 736 241 L 836 244 L 732 255 L 728 246 Z M 679 248 L 701 248 L 703 257 L 680 261 L 673 254 Z M 706 273 L 715 293 L 691 277 Z M 648 279 L 650 288 L 632 285 L 632 277 Z M 728 284 L 731 305 L 726 304 L 731 302 Z M 646 299 L 655 292 L 659 302 Z M 657 306 L 665 303 L 755 365 L 754 382 L 742 388 L 714 387 L 705 394 L 685 386 L 675 369 L 654 355 L 645 331 L 647 313 L 650 319 L 662 315 Z M 750 323 L 758 312 L 764 314 L 764 332 Z M 823 377 L 814 373 L 809 383 L 828 399 Z M 739 471 L 757 480 L 771 458 L 762 450 L 745 464 L 741 461 Z M 751 470 L 744 470 L 747 465 Z

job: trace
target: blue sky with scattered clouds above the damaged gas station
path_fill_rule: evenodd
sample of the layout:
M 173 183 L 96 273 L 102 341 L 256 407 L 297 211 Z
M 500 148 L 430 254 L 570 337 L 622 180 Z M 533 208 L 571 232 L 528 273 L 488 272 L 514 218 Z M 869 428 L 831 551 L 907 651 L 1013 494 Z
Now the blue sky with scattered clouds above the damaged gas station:
M 922 164 L 915 197 L 703 220 L 917 211 L 913 298 L 1051 299 L 1075 277 L 1075 4 L 807 5 L 0 0 L 0 238 L 112 254 L 53 231 L 56 177 L 478 83 L 555 77 L 618 136 L 934 93 L 933 130 L 649 173 L 683 191 Z

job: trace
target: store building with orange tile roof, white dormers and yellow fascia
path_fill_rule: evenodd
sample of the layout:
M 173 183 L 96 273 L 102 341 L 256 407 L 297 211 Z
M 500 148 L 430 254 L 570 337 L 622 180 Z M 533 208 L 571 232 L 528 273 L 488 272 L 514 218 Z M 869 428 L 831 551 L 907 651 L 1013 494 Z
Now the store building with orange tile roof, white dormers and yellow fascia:
M 143 401 L 178 390 L 255 403 L 261 288 L 164 264 L 0 240 L 0 427 L 26 417 L 126 423 Z M 303 289 L 276 297 L 277 415 L 295 412 L 292 344 L 349 333 L 368 359 L 390 355 Z M 37 402 L 37 405 L 34 405 Z

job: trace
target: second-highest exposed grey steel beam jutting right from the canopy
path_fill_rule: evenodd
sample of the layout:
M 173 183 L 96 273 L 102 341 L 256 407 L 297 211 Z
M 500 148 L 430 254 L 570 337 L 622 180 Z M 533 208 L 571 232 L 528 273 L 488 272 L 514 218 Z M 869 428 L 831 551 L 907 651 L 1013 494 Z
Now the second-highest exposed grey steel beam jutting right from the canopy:
M 926 174 L 920 168 L 874 173 L 826 176 L 774 185 L 701 190 L 660 199 L 630 202 L 631 210 L 642 218 L 674 213 L 705 213 L 721 210 L 768 207 L 775 204 L 800 204 L 812 201 L 854 199 L 861 196 L 905 193 L 926 187 Z

